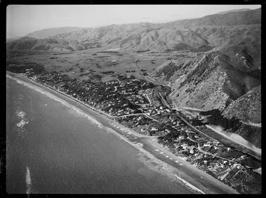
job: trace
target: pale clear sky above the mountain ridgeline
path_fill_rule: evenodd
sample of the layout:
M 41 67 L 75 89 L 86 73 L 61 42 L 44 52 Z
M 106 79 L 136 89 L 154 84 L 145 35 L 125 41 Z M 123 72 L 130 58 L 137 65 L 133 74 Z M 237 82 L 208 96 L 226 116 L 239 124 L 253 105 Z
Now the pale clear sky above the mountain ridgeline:
M 22 37 L 46 28 L 95 28 L 124 23 L 165 23 L 260 5 L 10 5 L 7 38 Z

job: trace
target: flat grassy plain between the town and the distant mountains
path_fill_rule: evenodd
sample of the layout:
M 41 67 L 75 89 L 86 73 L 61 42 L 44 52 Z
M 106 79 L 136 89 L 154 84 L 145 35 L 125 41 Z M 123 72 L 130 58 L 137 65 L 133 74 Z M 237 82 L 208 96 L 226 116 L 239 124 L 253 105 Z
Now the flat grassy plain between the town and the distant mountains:
M 173 53 L 113 52 L 82 50 L 75 52 L 11 50 L 7 52 L 8 63 L 38 63 L 48 72 L 64 72 L 70 77 L 91 81 L 108 81 L 119 75 L 134 75 L 142 79 L 140 70 L 149 74 Z M 137 61 L 137 66 L 135 65 Z

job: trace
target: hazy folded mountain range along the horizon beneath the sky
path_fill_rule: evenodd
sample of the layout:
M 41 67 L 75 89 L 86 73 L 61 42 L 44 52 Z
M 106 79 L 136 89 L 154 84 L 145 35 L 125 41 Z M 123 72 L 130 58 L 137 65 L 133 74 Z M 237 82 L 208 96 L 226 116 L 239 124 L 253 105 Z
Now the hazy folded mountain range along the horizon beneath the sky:
M 209 50 L 234 41 L 241 31 L 252 34 L 254 28 L 260 28 L 260 9 L 232 11 L 169 23 L 133 23 L 100 28 L 51 28 L 32 32 L 15 41 L 8 41 L 7 48 L 55 51 L 88 48 Z

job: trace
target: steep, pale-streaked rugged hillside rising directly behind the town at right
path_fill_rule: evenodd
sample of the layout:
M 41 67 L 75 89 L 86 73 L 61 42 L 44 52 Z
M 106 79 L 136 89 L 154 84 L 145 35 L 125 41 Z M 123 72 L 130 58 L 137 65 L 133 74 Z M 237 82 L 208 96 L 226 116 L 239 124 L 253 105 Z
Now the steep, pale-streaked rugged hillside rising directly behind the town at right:
M 157 68 L 150 76 L 171 82 L 175 88 L 171 98 L 178 106 L 224 110 L 231 101 L 260 85 L 259 78 L 252 77 L 245 68 L 230 65 L 229 59 L 221 52 L 194 59 L 180 57 Z

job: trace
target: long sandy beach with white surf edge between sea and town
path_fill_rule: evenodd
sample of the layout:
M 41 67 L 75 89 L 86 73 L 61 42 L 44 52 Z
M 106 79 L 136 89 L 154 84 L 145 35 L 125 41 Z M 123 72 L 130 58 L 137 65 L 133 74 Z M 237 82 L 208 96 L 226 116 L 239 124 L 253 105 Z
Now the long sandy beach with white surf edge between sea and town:
M 53 97 L 64 103 L 66 106 L 71 106 L 77 113 L 88 117 L 93 120 L 100 128 L 105 128 L 108 132 L 112 132 L 120 139 L 131 144 L 131 146 L 137 148 L 142 154 L 149 157 L 152 161 L 160 164 L 164 168 L 165 174 L 169 177 L 182 182 L 187 187 L 191 188 L 195 193 L 199 194 L 236 194 L 236 190 L 229 186 L 222 184 L 221 181 L 211 177 L 206 172 L 199 170 L 195 166 L 192 166 L 182 158 L 173 155 L 169 150 L 163 148 L 157 141 L 157 137 L 146 137 L 141 135 L 120 123 L 117 123 L 111 117 L 107 117 L 102 112 L 95 110 L 85 103 L 78 101 L 77 99 L 70 97 L 58 90 L 44 86 L 36 81 L 28 79 L 25 75 L 13 75 L 9 73 L 7 77 L 15 79 L 19 83 L 23 83 L 25 86 L 34 88 L 49 97 Z M 12 75 L 12 76 L 10 76 Z

